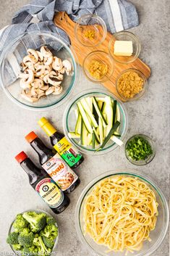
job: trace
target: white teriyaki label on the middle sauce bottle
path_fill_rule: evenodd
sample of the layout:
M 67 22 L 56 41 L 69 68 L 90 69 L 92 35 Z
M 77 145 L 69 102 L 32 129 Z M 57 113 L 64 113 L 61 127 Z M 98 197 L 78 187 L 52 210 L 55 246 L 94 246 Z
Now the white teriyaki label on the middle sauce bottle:
M 62 191 L 69 189 L 78 178 L 58 153 L 43 164 L 43 169 L 60 186 Z

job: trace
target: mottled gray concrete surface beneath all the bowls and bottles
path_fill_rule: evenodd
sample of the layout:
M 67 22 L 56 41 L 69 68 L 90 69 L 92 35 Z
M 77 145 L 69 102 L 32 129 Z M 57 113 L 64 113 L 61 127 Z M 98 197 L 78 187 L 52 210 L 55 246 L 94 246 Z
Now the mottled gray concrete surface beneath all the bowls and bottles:
M 7 25 L 12 13 L 29 1 L 1 0 L 0 27 Z M 144 167 L 135 167 L 127 162 L 124 147 L 116 149 L 105 157 L 86 156 L 80 168 L 81 185 L 70 195 L 71 204 L 61 215 L 56 216 L 59 223 L 59 247 L 56 256 L 91 255 L 81 244 L 75 231 L 75 205 L 77 199 L 89 181 L 98 174 L 114 169 L 135 169 L 152 176 L 161 189 L 169 197 L 169 0 L 132 0 L 136 4 L 140 25 L 132 29 L 140 37 L 142 51 L 140 57 L 150 65 L 152 75 L 149 79 L 148 91 L 138 102 L 126 104 L 129 129 L 126 139 L 134 133 L 148 133 L 156 142 L 156 157 Z M 72 96 L 85 88 L 100 88 L 88 82 L 80 72 L 80 82 Z M 51 212 L 29 186 L 27 175 L 17 165 L 14 156 L 25 150 L 33 160 L 38 162 L 24 136 L 29 131 L 38 131 L 41 138 L 49 145 L 49 141 L 38 128 L 37 120 L 46 115 L 62 131 L 61 119 L 65 104 L 59 109 L 49 112 L 30 112 L 22 110 L 9 101 L 0 92 L 1 120 L 1 192 L 0 192 L 0 255 L 9 255 L 11 249 L 6 244 L 6 236 L 10 223 L 18 212 L 27 209 L 41 209 Z M 6 253 L 6 254 L 5 254 Z M 116 254 L 115 254 L 116 255 Z M 169 255 L 169 239 L 163 241 L 153 256 Z

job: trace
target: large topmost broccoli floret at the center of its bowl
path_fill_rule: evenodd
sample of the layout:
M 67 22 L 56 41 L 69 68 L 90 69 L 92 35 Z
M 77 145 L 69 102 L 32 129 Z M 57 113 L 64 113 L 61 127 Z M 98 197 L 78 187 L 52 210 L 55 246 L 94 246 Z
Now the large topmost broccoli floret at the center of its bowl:
M 46 214 L 41 212 L 24 212 L 23 218 L 30 223 L 30 229 L 33 232 L 39 232 L 46 226 Z

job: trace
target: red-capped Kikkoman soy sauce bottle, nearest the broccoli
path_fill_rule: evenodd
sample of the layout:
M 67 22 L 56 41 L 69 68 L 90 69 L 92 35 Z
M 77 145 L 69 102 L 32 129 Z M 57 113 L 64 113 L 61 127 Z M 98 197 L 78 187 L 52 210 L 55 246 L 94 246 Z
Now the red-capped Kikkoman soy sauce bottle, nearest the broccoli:
M 56 214 L 63 212 L 69 205 L 69 198 L 61 191 L 55 181 L 48 176 L 48 173 L 38 168 L 23 151 L 17 154 L 15 159 L 27 173 L 30 186 L 38 192 L 48 207 Z

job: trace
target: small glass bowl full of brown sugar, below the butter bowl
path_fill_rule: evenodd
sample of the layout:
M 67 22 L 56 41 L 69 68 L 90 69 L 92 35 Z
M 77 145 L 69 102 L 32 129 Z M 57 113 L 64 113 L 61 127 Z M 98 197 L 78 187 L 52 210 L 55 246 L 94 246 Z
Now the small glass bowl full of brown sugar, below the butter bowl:
M 124 101 L 140 99 L 145 94 L 147 85 L 145 75 L 135 68 L 124 70 L 116 78 L 116 91 Z

